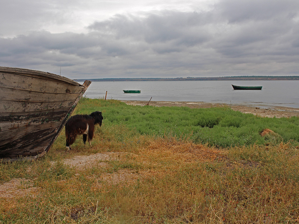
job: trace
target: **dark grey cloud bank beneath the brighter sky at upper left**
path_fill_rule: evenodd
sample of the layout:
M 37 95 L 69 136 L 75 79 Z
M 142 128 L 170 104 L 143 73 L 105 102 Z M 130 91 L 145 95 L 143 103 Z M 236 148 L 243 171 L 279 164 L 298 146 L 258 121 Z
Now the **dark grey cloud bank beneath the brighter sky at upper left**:
M 298 11 L 299 1 L 225 0 L 202 11 L 119 13 L 81 33 L 3 33 L 1 66 L 61 67 L 73 79 L 298 75 Z

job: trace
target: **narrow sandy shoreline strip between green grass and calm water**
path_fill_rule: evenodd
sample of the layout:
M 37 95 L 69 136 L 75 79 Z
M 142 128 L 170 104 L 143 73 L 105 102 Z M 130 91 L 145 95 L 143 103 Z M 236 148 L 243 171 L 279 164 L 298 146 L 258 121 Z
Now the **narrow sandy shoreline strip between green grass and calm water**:
M 137 100 L 120 100 L 128 105 L 147 105 L 148 101 Z M 232 104 L 220 104 L 220 103 L 208 103 L 208 102 L 170 102 L 170 101 L 150 101 L 150 106 L 163 107 L 163 106 L 177 106 L 177 107 L 190 107 L 190 108 L 210 108 L 210 107 L 223 107 L 228 106 L 234 111 L 240 111 L 242 113 L 252 113 L 254 115 L 262 117 L 292 117 L 299 116 L 299 108 L 290 107 L 277 107 L 277 106 L 247 106 L 247 105 L 232 105 Z

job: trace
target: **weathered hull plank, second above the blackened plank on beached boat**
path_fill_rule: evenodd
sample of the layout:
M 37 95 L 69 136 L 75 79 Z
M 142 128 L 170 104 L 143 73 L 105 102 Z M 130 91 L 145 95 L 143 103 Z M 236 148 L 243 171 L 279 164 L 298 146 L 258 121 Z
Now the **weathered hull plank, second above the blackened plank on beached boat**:
M 15 90 L 0 87 L 0 100 L 22 102 L 57 102 L 77 99 L 77 93 L 38 93 L 27 90 Z

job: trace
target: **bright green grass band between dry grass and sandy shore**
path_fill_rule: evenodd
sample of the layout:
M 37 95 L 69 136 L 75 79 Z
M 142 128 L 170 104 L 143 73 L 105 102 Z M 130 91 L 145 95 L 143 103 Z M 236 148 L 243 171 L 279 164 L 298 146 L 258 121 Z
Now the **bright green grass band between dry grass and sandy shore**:
M 76 109 L 77 113 L 101 110 L 103 130 L 115 125 L 124 126 L 140 135 L 190 138 L 197 143 L 218 147 L 265 144 L 265 138 L 260 136 L 265 128 L 280 135 L 284 142 L 299 141 L 298 117 L 264 118 L 228 107 L 131 106 L 116 100 L 88 98 L 83 98 Z M 119 133 L 118 138 L 118 141 L 123 140 L 123 132 Z

